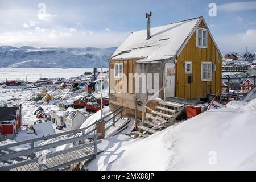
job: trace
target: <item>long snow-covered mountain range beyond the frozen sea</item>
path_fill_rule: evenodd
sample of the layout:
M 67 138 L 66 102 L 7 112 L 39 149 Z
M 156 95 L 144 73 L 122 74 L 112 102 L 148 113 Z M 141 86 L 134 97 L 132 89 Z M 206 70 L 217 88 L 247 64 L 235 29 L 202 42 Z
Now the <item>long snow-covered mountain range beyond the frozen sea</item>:
M 106 68 L 115 49 L 0 46 L 0 68 Z

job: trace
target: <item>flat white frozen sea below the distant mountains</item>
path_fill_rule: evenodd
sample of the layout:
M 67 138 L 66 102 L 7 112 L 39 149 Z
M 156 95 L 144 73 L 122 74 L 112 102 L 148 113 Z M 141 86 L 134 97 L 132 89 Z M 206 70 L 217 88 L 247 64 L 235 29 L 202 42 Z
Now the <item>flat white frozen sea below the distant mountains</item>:
M 107 71 L 108 68 L 103 68 Z M 93 71 L 93 68 L 0 68 L 0 82 L 7 80 L 36 81 L 42 78 L 71 78 L 80 76 L 84 72 Z M 100 71 L 100 68 L 98 68 Z

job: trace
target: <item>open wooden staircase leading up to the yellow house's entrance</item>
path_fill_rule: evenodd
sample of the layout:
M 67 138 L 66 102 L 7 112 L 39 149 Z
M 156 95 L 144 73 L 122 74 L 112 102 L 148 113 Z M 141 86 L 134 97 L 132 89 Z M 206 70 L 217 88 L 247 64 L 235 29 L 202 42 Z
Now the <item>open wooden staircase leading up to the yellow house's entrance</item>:
M 155 110 L 146 113 L 146 120 L 138 126 L 139 131 L 135 131 L 131 135 L 134 135 L 134 138 L 148 137 L 161 131 L 172 125 L 183 109 L 184 104 L 162 100 L 159 102 L 159 106 L 155 107 Z

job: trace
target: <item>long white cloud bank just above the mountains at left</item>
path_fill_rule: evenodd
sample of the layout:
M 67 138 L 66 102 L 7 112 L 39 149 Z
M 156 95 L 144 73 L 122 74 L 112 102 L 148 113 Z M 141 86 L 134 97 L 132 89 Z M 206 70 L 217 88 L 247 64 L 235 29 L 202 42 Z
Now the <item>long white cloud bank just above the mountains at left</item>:
M 61 46 L 61 47 L 116 47 L 130 34 L 130 32 L 108 32 L 94 31 L 90 34 L 89 31 L 76 31 L 75 34 L 69 32 L 69 29 L 60 27 L 54 28 L 50 32 L 47 30 L 37 34 L 34 32 L 23 30 L 15 32 L 15 34 L 6 35 L 0 33 L 0 44 L 11 46 L 26 46 L 35 47 Z M 88 36 L 89 35 L 89 36 Z

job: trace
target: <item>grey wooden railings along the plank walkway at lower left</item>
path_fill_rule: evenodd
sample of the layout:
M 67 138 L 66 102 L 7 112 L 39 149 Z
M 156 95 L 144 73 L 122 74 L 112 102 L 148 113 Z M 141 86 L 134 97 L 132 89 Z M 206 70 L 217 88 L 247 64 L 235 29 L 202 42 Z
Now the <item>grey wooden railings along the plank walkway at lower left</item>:
M 98 141 L 98 136 L 101 134 L 92 134 L 92 135 L 85 135 L 84 130 L 88 129 L 88 127 L 84 129 L 78 129 L 78 130 L 73 130 L 73 131 L 68 131 L 60 134 L 55 134 L 55 135 L 49 135 L 47 137 L 40 137 L 36 139 L 31 139 L 31 140 L 26 140 L 23 142 L 18 142 L 18 143 L 13 143 L 13 144 L 8 144 L 5 146 L 0 146 L 0 151 L 2 155 L 0 155 L 0 162 L 3 163 L 8 163 L 9 160 L 16 160 L 16 159 L 22 159 L 24 156 L 27 157 L 27 160 L 20 160 L 18 163 L 13 163 L 10 165 L 6 166 L 0 166 L 0 171 L 7 171 L 16 167 L 24 166 L 27 164 L 31 163 L 38 163 L 39 164 L 39 171 L 43 170 L 43 164 L 39 162 L 40 158 L 42 158 L 42 151 L 43 150 L 49 150 L 51 148 L 56 148 L 58 146 L 62 146 L 64 144 L 71 144 L 71 143 L 76 143 L 82 141 L 82 143 L 78 146 L 64 149 L 58 152 L 53 152 L 52 154 L 44 155 L 44 159 L 52 158 L 54 156 L 62 155 L 62 154 L 67 154 L 68 152 L 80 150 L 82 148 L 94 146 L 94 155 L 88 155 L 89 158 L 93 158 L 94 156 L 97 155 L 97 144 L 101 143 L 101 141 Z M 38 142 L 39 140 L 46 140 L 46 139 L 51 139 L 51 138 L 56 138 L 56 137 L 61 137 L 61 136 L 68 136 L 70 134 L 76 134 L 80 133 L 82 131 L 82 135 L 73 135 L 72 137 L 69 137 L 64 140 L 59 140 L 57 142 L 52 142 L 48 144 L 44 144 L 42 146 L 37 146 L 35 147 L 35 142 Z M 93 142 L 85 143 L 86 139 L 93 139 Z M 11 147 L 16 147 L 16 146 L 21 146 L 23 144 L 30 144 L 30 148 L 26 150 L 21 150 L 21 151 L 12 151 L 10 150 Z M 41 156 L 37 156 L 37 152 L 41 153 Z M 39 153 L 39 154 L 40 154 Z M 85 158 L 82 158 L 81 160 L 85 160 Z M 64 165 L 64 164 L 61 164 Z

